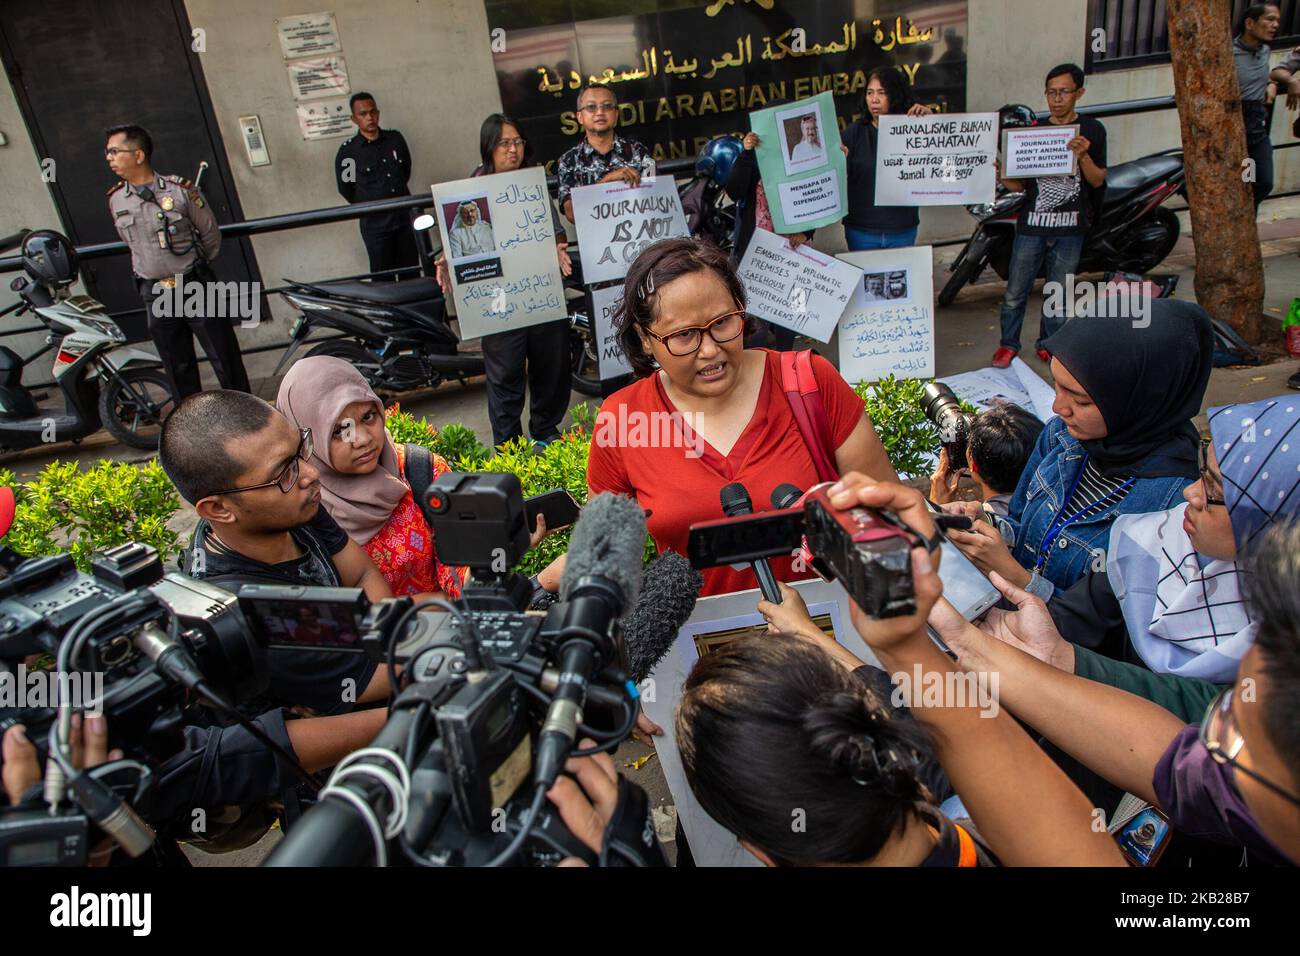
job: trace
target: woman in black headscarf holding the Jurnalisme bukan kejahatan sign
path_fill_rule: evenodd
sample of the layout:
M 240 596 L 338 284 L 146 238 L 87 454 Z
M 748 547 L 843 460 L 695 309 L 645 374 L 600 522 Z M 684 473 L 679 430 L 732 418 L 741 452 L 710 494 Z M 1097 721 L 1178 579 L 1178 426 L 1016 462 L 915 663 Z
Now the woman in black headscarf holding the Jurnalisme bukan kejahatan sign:
M 867 114 L 845 127 L 840 147 L 849 157 L 849 215 L 844 217 L 844 239 L 850 252 L 915 246 L 920 226 L 916 207 L 876 206 L 876 138 L 881 116 L 926 116 L 933 111 L 913 101 L 904 74 L 893 66 L 871 72 L 866 105 Z

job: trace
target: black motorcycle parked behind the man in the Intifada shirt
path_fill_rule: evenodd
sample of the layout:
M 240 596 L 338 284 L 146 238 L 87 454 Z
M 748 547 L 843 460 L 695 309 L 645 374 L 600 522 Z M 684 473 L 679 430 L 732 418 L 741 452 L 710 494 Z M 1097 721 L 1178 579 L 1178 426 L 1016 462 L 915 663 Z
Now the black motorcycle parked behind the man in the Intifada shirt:
M 1004 114 L 1009 109 L 1004 107 Z M 1173 251 L 1182 232 L 1178 216 L 1162 206 L 1176 193 L 1186 196 L 1186 190 L 1182 150 L 1166 150 L 1106 169 L 1101 213 L 1084 239 L 1078 271 L 1145 274 L 1154 269 Z M 1006 280 L 1024 194 L 1009 193 L 1001 183 L 997 191 L 992 203 L 967 207 L 978 225 L 949 267 L 950 276 L 939 293 L 940 306 L 950 306 L 991 265 Z

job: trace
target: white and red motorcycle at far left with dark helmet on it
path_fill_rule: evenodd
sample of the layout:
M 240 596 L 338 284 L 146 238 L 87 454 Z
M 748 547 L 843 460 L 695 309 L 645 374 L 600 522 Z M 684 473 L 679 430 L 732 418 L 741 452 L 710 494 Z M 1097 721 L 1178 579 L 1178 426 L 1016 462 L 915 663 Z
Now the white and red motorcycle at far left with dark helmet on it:
M 124 445 L 156 449 L 162 420 L 176 405 L 159 356 L 150 349 L 126 346 L 126 334 L 98 300 L 70 294 L 77 252 L 64 235 L 25 230 L 0 239 L 0 251 L 18 246 L 27 274 L 9 285 L 18 302 L 0 316 L 32 312 L 49 334 L 46 346 L 26 358 L 0 346 L 0 450 L 79 442 L 101 427 Z M 38 408 L 22 384 L 23 368 L 51 349 L 62 414 Z

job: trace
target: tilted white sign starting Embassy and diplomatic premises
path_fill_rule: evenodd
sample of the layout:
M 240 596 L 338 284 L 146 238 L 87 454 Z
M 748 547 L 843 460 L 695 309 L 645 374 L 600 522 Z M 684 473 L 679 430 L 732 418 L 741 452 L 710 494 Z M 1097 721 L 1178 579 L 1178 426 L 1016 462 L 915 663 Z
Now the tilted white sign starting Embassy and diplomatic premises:
M 740 260 L 746 311 L 759 319 L 829 342 L 862 273 L 835 256 L 755 229 Z

